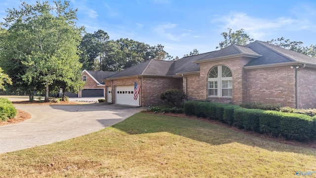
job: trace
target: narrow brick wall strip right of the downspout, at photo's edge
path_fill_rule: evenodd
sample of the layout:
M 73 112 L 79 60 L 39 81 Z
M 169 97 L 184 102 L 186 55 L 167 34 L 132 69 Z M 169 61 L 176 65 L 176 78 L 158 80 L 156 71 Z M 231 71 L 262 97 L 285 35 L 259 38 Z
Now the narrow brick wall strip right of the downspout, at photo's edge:
M 316 108 L 316 71 L 303 68 L 298 70 L 299 108 Z

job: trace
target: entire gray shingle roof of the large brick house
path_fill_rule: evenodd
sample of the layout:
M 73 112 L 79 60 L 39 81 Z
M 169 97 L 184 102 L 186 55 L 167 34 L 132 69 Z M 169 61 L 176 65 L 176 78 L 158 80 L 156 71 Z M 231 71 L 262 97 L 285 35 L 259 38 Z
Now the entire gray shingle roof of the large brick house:
M 255 41 L 245 46 L 230 45 L 217 51 L 183 57 L 175 62 L 152 59 L 108 76 L 107 78 L 119 78 L 136 75 L 175 76 L 177 74 L 199 72 L 199 64 L 194 63 L 195 61 L 212 60 L 238 54 L 254 56 L 254 59 L 245 66 L 293 61 L 316 64 L 316 58 L 284 49 L 276 45 Z

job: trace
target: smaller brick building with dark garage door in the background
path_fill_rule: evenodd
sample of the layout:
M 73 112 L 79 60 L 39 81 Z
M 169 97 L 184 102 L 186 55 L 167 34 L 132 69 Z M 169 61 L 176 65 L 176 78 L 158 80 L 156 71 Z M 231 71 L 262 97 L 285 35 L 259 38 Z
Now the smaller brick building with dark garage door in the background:
M 81 80 L 85 82 L 83 89 L 78 93 L 66 93 L 69 97 L 105 97 L 105 85 L 103 79 L 116 74 L 107 71 L 82 71 Z

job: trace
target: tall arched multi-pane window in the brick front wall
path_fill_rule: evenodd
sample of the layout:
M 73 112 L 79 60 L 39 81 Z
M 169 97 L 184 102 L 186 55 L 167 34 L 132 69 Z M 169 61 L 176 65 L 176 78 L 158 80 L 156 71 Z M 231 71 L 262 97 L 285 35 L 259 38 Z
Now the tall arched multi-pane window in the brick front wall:
M 233 76 L 228 67 L 219 65 L 209 71 L 207 93 L 208 96 L 214 97 L 233 96 Z

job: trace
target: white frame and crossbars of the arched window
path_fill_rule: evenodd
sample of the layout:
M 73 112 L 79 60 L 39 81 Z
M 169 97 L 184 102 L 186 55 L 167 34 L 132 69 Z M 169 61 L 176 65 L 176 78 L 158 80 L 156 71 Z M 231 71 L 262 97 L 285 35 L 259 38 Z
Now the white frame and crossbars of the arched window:
M 216 66 L 214 66 L 214 67 L 216 67 Z M 214 67 L 212 67 L 212 69 Z M 207 96 L 208 97 L 233 98 L 233 96 L 222 96 L 222 81 L 232 81 L 232 90 L 233 90 L 233 77 L 222 77 L 222 65 L 217 66 L 217 73 L 218 73 L 217 78 L 208 78 L 209 72 L 207 74 Z M 209 88 L 208 82 L 212 82 L 212 81 L 217 81 L 217 95 L 209 95 L 209 93 L 208 93 L 208 89 L 211 89 L 211 88 Z M 224 89 L 227 89 L 227 88 L 224 88 Z M 230 89 L 230 88 L 228 88 L 228 89 Z M 232 93 L 232 95 L 233 95 L 233 93 Z

